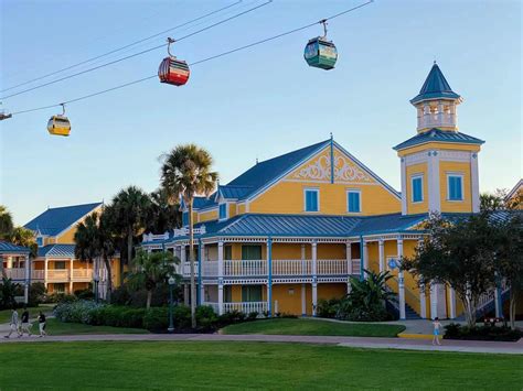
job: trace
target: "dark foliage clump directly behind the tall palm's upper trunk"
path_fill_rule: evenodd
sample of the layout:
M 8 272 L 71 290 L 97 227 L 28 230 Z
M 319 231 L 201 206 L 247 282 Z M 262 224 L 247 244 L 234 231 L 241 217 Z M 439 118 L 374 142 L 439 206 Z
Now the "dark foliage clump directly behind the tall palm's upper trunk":
M 170 199 L 164 188 L 150 194 L 151 206 L 146 231 L 162 233 L 181 226 L 182 215 L 179 199 Z

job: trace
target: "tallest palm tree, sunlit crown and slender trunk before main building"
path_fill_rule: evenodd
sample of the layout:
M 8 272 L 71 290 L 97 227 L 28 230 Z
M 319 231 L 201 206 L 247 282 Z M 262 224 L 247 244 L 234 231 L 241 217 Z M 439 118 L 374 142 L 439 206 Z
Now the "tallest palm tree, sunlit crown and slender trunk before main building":
M 211 171 L 213 159 L 204 149 L 195 144 L 175 146 L 162 160 L 161 185 L 170 199 L 183 199 L 189 208 L 189 262 L 191 264 L 191 319 L 196 327 L 196 285 L 194 281 L 194 232 L 193 200 L 202 194 L 210 196 L 216 186 L 218 174 Z

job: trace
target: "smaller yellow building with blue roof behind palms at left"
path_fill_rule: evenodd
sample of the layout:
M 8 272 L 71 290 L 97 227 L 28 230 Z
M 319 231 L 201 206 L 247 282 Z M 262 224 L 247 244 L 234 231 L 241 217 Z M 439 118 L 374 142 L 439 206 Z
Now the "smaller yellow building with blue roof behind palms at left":
M 76 226 L 87 216 L 100 213 L 103 203 L 47 208 L 25 225 L 39 246 L 38 257 L 31 261 L 30 280 L 43 282 L 49 293 L 72 294 L 85 290 L 96 281 L 99 293 L 105 295 L 107 272 L 100 262 L 92 264 L 75 257 Z M 118 281 L 118 260 L 113 260 L 113 281 Z M 8 273 L 15 271 L 8 271 Z

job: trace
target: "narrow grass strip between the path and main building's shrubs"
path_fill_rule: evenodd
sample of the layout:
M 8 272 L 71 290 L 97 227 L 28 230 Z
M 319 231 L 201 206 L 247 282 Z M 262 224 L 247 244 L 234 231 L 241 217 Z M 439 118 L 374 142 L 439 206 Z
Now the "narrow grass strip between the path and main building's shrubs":
M 223 334 L 331 335 L 352 337 L 396 337 L 405 326 L 372 323 L 338 323 L 320 319 L 264 319 L 222 328 Z

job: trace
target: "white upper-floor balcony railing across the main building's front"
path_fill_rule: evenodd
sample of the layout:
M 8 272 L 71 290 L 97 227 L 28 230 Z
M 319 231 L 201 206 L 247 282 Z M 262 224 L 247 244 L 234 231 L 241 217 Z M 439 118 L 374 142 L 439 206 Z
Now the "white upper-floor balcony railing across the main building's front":
M 273 276 L 322 276 L 322 275 L 348 275 L 360 274 L 360 259 L 352 260 L 352 270 L 348 270 L 345 259 L 319 259 L 316 262 L 316 273 L 313 262 L 310 259 L 277 259 L 273 260 Z M 181 267 L 184 278 L 191 276 L 190 262 L 184 262 Z M 194 263 L 195 275 L 199 275 L 198 262 Z M 224 278 L 256 278 L 267 276 L 268 267 L 266 260 L 228 260 L 223 261 Z M 202 276 L 217 278 L 218 261 L 204 261 L 202 263 Z

